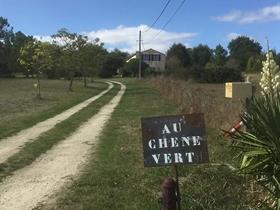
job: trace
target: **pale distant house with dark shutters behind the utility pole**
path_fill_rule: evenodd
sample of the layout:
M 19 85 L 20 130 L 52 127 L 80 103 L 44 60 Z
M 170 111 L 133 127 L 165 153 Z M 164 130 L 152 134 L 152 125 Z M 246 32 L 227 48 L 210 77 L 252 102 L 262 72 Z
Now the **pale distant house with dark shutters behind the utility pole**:
M 165 54 L 156 51 L 154 49 L 149 49 L 141 52 L 142 61 L 149 65 L 150 68 L 153 68 L 157 72 L 162 72 L 165 70 Z M 129 62 L 131 59 L 139 59 L 139 52 L 136 52 L 130 59 L 126 62 Z

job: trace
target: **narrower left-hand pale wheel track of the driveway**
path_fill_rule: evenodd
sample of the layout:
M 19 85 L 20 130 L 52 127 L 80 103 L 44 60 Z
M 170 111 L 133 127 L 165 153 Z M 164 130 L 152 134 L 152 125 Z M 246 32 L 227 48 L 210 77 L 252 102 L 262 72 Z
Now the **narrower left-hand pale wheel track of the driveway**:
M 9 157 L 17 153 L 25 143 L 35 140 L 42 133 L 52 129 L 57 123 L 66 120 L 71 115 L 75 114 L 76 112 L 88 106 L 93 101 L 102 97 L 104 94 L 106 94 L 108 91 L 110 91 L 113 88 L 113 84 L 111 82 L 107 82 L 107 84 L 109 85 L 108 88 L 102 91 L 101 93 L 99 93 L 98 95 L 91 97 L 83 101 L 82 103 L 75 105 L 70 109 L 67 109 L 66 111 L 52 118 L 37 123 L 36 125 L 27 128 L 25 130 L 22 130 L 11 137 L 1 140 L 0 163 L 4 163 Z

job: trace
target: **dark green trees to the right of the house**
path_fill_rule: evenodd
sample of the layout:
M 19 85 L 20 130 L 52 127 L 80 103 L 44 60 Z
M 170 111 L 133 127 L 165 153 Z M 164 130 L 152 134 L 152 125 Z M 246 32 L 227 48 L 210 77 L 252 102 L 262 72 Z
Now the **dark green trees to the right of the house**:
M 272 50 L 280 64 L 280 53 Z M 228 51 L 221 45 L 210 49 L 207 45 L 186 48 L 174 44 L 167 51 L 166 75 L 200 82 L 226 82 L 242 80 L 242 72 L 260 72 L 265 53 L 256 40 L 239 36 L 228 44 Z

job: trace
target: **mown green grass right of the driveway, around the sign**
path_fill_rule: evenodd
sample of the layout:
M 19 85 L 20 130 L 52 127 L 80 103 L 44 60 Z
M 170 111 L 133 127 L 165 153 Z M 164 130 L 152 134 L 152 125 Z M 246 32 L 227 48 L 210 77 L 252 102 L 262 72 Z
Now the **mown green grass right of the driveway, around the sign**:
M 140 118 L 178 113 L 148 81 L 125 80 L 127 91 L 81 177 L 42 209 L 156 210 L 160 184 L 172 167 L 144 168 Z M 211 162 L 235 164 L 228 142 L 208 130 Z M 249 209 L 244 180 L 225 166 L 181 166 L 182 209 Z M 250 204 L 251 205 L 251 204 Z

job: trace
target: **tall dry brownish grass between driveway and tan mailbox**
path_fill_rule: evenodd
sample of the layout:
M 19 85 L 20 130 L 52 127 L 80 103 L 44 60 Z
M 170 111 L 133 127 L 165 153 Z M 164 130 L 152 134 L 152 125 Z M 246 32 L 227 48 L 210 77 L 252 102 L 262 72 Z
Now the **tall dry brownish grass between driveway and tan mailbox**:
M 227 130 L 240 120 L 244 101 L 225 98 L 224 84 L 198 84 L 157 77 L 153 85 L 183 113 L 203 112 L 207 126 Z

